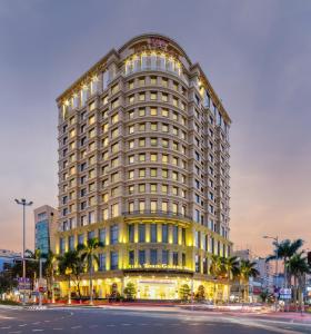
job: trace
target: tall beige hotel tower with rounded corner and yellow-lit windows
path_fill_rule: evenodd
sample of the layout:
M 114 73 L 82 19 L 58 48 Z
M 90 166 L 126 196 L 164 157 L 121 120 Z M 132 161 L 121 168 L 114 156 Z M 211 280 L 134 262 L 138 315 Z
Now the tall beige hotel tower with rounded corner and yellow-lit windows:
M 57 252 L 104 244 L 93 283 L 101 297 L 132 282 L 139 298 L 173 299 L 192 278 L 212 297 L 210 257 L 231 248 L 231 120 L 201 67 L 170 38 L 142 35 L 57 104 Z M 88 294 L 88 279 L 81 285 Z M 220 298 L 225 291 L 218 282 Z

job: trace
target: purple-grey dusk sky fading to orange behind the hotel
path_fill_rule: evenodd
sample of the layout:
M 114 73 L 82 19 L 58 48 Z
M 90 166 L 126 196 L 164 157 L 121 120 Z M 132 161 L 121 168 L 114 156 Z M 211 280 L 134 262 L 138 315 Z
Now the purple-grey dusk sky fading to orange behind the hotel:
M 311 1 L 0 0 L 0 248 L 33 248 L 57 206 L 56 98 L 112 48 L 159 32 L 199 62 L 232 118 L 231 239 L 311 247 Z

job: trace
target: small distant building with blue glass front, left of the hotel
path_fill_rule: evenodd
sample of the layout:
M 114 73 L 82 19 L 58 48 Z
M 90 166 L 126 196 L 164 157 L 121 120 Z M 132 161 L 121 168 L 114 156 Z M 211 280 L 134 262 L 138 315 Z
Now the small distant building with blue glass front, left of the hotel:
M 49 205 L 34 209 L 34 249 L 40 249 L 41 254 L 54 252 L 57 217 L 58 212 Z

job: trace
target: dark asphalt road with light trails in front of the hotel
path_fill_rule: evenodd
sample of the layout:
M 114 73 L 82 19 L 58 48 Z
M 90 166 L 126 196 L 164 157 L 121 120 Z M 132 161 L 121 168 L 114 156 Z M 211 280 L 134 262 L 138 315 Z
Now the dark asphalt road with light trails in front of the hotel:
M 44 311 L 0 307 L 1 333 L 294 334 L 311 333 L 311 324 L 163 307 Z

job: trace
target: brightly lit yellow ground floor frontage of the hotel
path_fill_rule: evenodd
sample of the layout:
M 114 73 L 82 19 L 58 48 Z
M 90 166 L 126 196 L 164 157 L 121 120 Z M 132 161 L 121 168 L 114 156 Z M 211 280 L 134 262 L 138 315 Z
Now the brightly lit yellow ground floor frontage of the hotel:
M 94 277 L 93 295 L 96 298 L 110 298 L 111 296 L 124 296 L 124 289 L 129 286 L 136 299 L 167 299 L 177 301 L 195 298 L 209 301 L 227 301 L 228 284 L 202 277 L 195 277 L 184 273 L 139 273 L 123 271 L 114 276 Z M 61 296 L 67 297 L 69 293 L 69 282 L 59 282 Z M 71 282 L 70 291 L 73 296 L 83 297 L 90 295 L 90 279 L 86 276 L 79 282 Z

